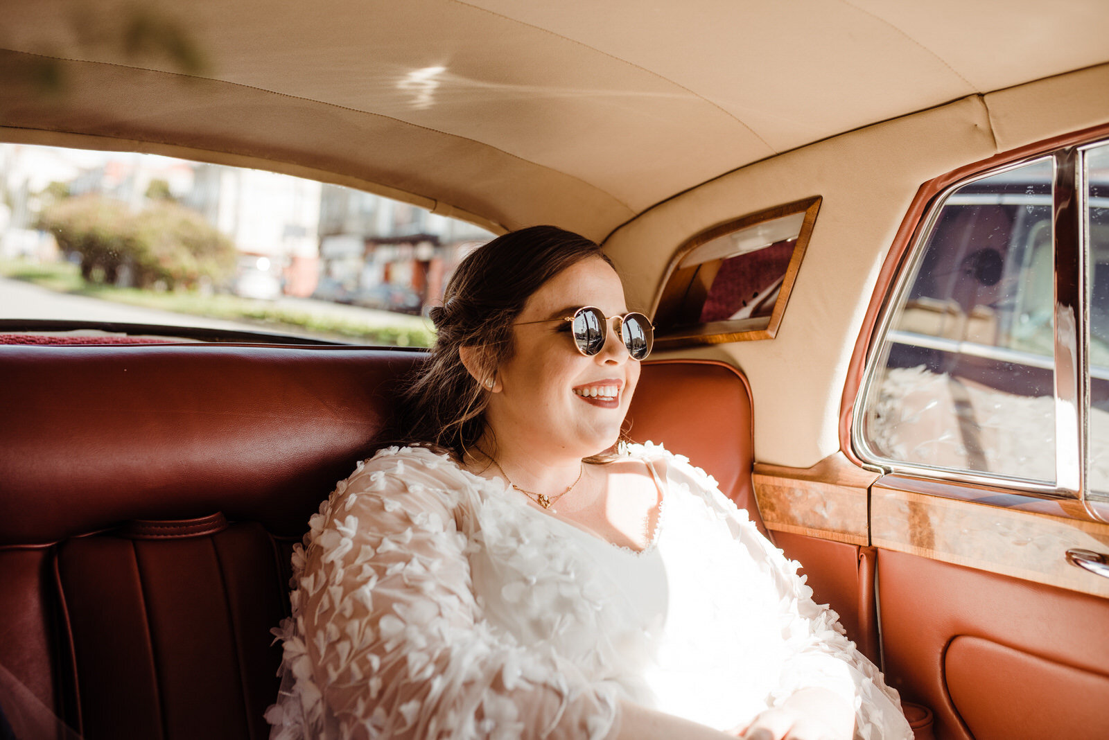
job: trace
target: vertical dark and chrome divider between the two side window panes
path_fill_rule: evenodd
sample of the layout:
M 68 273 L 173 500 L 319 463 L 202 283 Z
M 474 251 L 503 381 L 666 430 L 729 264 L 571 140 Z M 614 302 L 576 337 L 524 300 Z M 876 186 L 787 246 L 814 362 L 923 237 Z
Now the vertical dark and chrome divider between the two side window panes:
M 1086 260 L 1080 247 L 1078 152 L 1055 153 L 1051 241 L 1055 248 L 1055 482 L 1061 495 L 1086 487 Z

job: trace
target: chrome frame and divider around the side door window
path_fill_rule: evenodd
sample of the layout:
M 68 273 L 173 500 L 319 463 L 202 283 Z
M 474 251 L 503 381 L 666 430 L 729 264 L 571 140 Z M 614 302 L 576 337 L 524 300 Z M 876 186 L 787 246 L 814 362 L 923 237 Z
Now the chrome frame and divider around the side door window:
M 1004 486 L 1020 493 L 1045 497 L 1085 502 L 1089 494 L 1087 482 L 1088 459 L 1088 400 L 1089 400 L 1089 306 L 1087 269 L 1089 234 L 1087 234 L 1088 192 L 1085 176 L 1085 152 L 1105 146 L 1109 138 L 1099 138 L 1051 152 L 1037 153 L 985 172 L 968 175 L 937 193 L 928 203 L 923 227 L 917 232 L 898 266 L 894 289 L 882 302 L 873 340 L 867 347 L 863 383 L 852 413 L 851 444 L 861 461 L 881 469 L 884 473 L 899 473 L 984 486 Z M 886 356 L 889 339 L 895 332 L 891 322 L 895 308 L 916 281 L 926 245 L 932 237 L 939 214 L 950 196 L 959 188 L 1017 169 L 1026 165 L 1050 161 L 1051 178 L 1051 248 L 1054 255 L 1054 316 L 1055 335 L 1054 383 L 1056 415 L 1056 450 L 1054 482 L 1036 481 L 1001 473 L 975 472 L 938 467 L 922 463 L 885 458 L 867 444 L 863 434 L 866 401 L 873 391 L 881 361 Z M 1061 328 L 1060 328 L 1061 327 Z M 1100 499 L 1100 496 L 1096 496 Z

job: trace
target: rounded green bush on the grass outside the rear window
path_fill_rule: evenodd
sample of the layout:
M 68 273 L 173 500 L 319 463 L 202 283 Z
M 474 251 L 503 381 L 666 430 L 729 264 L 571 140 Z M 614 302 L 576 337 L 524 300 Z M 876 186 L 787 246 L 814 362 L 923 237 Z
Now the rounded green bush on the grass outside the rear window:
M 169 201 L 138 214 L 99 195 L 59 201 L 42 216 L 67 253 L 81 257 L 85 280 L 114 284 L 124 266 L 141 288 L 195 288 L 220 282 L 235 268 L 231 240 L 200 214 Z

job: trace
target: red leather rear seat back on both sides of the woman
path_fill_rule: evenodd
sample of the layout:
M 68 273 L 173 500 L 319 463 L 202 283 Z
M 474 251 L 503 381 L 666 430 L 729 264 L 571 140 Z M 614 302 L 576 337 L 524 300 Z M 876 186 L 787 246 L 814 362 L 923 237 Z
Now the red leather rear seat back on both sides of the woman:
M 420 357 L 0 347 L 0 667 L 88 738 L 265 737 L 288 549 Z M 630 415 L 759 521 L 742 376 L 647 362 Z

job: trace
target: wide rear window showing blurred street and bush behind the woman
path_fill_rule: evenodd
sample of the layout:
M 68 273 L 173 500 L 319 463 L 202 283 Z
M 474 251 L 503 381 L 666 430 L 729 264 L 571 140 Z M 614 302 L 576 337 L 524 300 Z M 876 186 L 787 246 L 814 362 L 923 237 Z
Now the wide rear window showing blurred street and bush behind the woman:
M 362 191 L 164 156 L 0 144 L 0 172 L 6 336 L 428 346 L 427 309 L 492 237 Z

